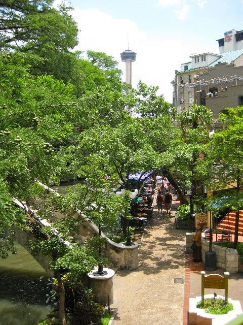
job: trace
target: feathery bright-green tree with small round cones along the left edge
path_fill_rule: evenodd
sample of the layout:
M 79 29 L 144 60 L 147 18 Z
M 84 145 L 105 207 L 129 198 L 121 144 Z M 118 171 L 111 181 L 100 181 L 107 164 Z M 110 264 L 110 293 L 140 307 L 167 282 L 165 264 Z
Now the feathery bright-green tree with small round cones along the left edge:
M 22 53 L 0 55 L 0 201 L 5 215 L 0 231 L 6 247 L 11 246 L 8 230 L 21 221 L 21 214 L 13 217 L 13 198 L 26 201 L 36 180 L 48 184 L 55 177 L 60 161 L 56 152 L 75 132 L 70 114 L 73 87 L 51 76 L 33 78 L 25 57 Z M 1 249 L 6 256 L 4 245 Z

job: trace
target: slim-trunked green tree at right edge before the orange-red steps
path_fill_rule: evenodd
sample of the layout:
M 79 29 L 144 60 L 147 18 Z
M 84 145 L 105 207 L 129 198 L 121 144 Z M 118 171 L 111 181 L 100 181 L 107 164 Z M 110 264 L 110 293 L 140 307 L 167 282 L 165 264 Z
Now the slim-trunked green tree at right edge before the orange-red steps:
M 209 171 L 214 190 L 227 189 L 223 206 L 236 211 L 234 247 L 238 241 L 239 209 L 243 207 L 243 108 L 226 108 L 219 120 L 224 129 L 216 131 L 210 143 Z

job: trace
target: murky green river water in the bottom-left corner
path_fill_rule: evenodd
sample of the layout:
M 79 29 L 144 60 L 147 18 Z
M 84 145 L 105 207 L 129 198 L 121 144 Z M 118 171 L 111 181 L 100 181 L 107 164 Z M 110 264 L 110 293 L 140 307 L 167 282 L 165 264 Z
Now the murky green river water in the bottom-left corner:
M 36 325 L 52 308 L 46 303 L 51 279 L 22 246 L 16 248 L 16 255 L 0 258 L 0 325 Z

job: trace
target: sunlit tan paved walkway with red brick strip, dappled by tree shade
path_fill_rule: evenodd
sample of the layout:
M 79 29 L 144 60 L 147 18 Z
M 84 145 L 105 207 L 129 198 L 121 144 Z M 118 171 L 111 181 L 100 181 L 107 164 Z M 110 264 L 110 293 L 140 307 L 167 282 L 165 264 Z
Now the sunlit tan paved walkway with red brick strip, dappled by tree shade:
M 200 296 L 203 264 L 192 263 L 192 256 L 184 253 L 185 231 L 175 229 L 177 206 L 173 201 L 172 215 L 158 214 L 155 207 L 153 229 L 144 233 L 139 248 L 138 269 L 115 273 L 113 325 L 187 325 L 189 298 Z M 229 298 L 241 306 L 242 287 L 243 274 L 230 275 Z M 217 294 L 224 295 L 220 290 Z

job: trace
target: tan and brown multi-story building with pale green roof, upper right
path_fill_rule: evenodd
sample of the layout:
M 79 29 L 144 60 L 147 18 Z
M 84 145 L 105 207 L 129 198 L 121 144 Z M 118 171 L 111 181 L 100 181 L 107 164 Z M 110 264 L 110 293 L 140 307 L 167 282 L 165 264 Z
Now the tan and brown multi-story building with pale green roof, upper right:
M 172 84 L 177 113 L 196 103 L 218 117 L 225 107 L 243 104 L 243 31 L 227 31 L 218 43 L 220 54 L 191 55 L 176 71 Z

